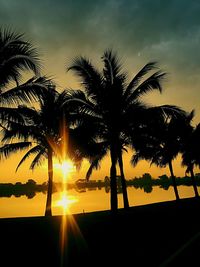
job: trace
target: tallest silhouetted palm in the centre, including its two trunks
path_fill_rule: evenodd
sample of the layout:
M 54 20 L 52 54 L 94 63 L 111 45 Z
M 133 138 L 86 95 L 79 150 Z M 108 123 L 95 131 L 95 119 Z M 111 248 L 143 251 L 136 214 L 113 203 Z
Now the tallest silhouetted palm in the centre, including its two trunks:
M 141 97 L 152 90 L 161 92 L 161 81 L 165 73 L 159 70 L 151 73 L 157 66 L 155 62 L 150 62 L 128 82 L 127 74 L 122 71 L 122 65 L 115 53 L 106 51 L 102 61 L 104 67 L 100 72 L 84 57 L 74 60 L 69 70 L 79 76 L 83 90 L 71 92 L 71 101 L 79 103 L 79 112 L 91 116 L 94 124 L 96 123 L 97 131 L 92 143 L 94 145 L 95 141 L 98 149 L 96 156 L 90 157 L 88 154 L 91 166 L 87 177 L 94 167 L 99 166 L 107 152 L 110 152 L 111 210 L 115 212 L 118 207 L 116 165 L 119 163 L 120 166 L 124 207 L 127 208 L 129 204 L 122 151 L 131 144 L 133 128 L 140 127 L 144 114 L 148 114 L 149 107 L 142 102 Z M 170 106 L 160 107 L 160 113 L 165 109 L 170 110 Z

